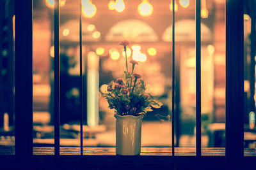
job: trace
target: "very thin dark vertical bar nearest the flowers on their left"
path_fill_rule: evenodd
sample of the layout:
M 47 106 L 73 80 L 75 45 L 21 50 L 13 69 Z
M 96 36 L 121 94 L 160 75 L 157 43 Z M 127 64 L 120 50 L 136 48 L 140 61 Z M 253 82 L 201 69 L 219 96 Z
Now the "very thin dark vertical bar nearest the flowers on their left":
M 79 0 L 79 47 L 80 47 L 80 147 L 83 155 L 83 51 L 82 51 L 82 1 Z

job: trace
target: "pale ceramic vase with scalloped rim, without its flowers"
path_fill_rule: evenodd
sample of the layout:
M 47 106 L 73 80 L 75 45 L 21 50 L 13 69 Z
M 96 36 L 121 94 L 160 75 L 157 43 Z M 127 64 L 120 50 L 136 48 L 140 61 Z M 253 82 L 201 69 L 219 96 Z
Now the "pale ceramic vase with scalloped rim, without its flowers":
M 114 115 L 116 118 L 116 155 L 140 155 L 141 119 L 144 115 Z

